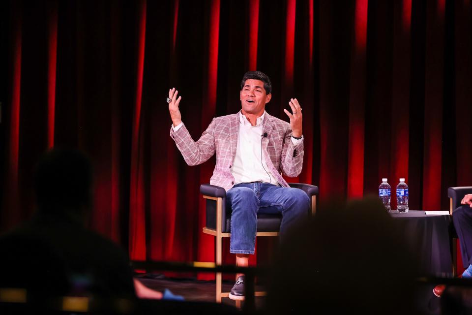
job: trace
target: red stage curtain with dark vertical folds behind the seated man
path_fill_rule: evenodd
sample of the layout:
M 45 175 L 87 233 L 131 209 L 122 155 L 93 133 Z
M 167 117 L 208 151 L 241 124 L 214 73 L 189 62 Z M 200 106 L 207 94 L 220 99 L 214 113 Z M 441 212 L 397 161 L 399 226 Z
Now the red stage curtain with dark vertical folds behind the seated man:
M 472 185 L 470 1 L 0 5 L 1 230 L 33 212 L 39 155 L 76 147 L 95 167 L 95 230 L 132 259 L 212 261 L 199 186 L 215 158 L 185 164 L 165 98 L 177 87 L 198 139 L 213 117 L 237 112 L 239 81 L 254 69 L 272 79 L 269 113 L 288 120 L 289 99 L 300 101 L 305 160 L 290 181 L 318 185 L 320 201 L 405 177 L 410 209 L 445 210 L 447 187 Z M 258 241 L 258 263 L 272 247 Z

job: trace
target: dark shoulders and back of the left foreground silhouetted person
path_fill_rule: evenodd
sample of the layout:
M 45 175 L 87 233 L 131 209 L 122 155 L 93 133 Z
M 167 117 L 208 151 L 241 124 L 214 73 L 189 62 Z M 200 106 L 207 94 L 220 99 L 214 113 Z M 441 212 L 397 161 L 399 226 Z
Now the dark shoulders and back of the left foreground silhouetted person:
M 37 284 L 47 281 L 49 291 L 57 294 L 80 287 L 84 293 L 100 296 L 135 295 L 126 252 L 72 221 L 36 216 L 0 237 L 0 255 L 5 257 L 6 252 L 8 259 L 0 263 L 1 285 L 17 284 L 14 286 L 44 291 Z M 15 276 L 8 277 L 6 270 L 16 270 Z

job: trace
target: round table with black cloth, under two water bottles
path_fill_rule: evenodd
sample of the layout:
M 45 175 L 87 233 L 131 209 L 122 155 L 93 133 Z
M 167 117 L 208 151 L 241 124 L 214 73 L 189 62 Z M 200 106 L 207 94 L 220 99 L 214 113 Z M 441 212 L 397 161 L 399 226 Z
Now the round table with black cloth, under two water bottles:
M 417 253 L 421 272 L 436 277 L 452 277 L 449 215 L 426 215 L 424 211 L 393 213 L 406 237 L 407 246 Z M 401 268 L 401 266 L 398 266 Z

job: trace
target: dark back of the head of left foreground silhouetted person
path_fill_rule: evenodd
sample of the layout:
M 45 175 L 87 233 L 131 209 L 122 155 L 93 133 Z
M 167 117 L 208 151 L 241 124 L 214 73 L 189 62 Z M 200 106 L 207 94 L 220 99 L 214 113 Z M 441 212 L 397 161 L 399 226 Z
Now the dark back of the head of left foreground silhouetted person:
M 78 150 L 47 151 L 36 165 L 34 184 L 40 211 L 79 210 L 91 205 L 92 166 Z

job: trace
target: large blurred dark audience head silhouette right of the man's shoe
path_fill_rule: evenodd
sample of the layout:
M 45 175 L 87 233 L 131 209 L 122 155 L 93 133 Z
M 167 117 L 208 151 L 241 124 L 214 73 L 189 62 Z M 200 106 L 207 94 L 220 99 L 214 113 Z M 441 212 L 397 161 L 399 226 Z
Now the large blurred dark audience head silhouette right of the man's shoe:
M 283 240 L 267 314 L 418 314 L 416 261 L 379 199 L 322 210 Z

